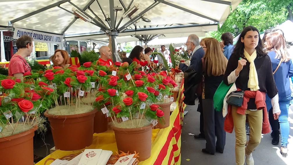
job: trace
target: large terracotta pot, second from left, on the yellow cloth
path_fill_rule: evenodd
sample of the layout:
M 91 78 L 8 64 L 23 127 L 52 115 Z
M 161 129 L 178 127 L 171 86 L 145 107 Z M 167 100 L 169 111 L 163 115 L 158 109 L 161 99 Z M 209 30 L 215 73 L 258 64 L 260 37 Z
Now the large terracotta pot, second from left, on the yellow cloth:
M 46 111 L 52 128 L 55 149 L 72 151 L 90 146 L 93 142 L 93 118 L 96 111 L 76 115 L 51 115 Z

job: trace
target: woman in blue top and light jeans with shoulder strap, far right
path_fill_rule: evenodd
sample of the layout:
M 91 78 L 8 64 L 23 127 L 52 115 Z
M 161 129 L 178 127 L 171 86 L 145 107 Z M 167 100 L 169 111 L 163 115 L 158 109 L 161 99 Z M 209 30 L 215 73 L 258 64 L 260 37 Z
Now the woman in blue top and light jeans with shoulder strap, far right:
M 281 148 L 283 157 L 287 157 L 287 143 L 289 137 L 288 110 L 291 100 L 290 77 L 293 76 L 293 64 L 290 59 L 285 38 L 282 34 L 275 31 L 265 36 L 265 50 L 272 62 L 272 72 L 274 73 L 275 83 L 279 94 L 279 105 L 281 114 L 279 116 L 281 130 Z M 267 98 L 268 100 L 268 98 Z M 270 103 L 266 101 L 266 103 Z M 271 107 L 271 106 L 270 106 Z M 268 109 L 270 108 L 268 105 Z M 272 127 L 272 144 L 279 144 L 278 125 L 274 126 L 275 120 L 272 119 L 272 108 L 269 111 L 269 119 Z

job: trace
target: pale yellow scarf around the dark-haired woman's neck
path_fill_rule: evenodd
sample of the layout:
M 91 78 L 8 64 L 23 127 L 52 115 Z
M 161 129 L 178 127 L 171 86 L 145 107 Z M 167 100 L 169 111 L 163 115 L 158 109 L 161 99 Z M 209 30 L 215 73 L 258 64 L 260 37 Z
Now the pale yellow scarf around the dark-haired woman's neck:
M 244 49 L 244 57 L 250 63 L 250 65 L 249 65 L 249 79 L 248 79 L 247 87 L 250 88 L 251 91 L 257 91 L 259 89 L 258 76 L 257 76 L 255 65 L 254 65 L 254 59 L 256 58 L 256 50 L 250 56 L 246 52 L 246 50 Z

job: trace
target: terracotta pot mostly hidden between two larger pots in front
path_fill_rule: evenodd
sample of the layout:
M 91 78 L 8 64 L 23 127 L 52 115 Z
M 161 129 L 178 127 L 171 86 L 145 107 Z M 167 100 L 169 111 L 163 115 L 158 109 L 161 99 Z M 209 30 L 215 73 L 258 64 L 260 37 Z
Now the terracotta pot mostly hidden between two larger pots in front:
M 93 118 L 93 133 L 102 133 L 108 130 L 108 118 L 100 110 L 96 110 Z

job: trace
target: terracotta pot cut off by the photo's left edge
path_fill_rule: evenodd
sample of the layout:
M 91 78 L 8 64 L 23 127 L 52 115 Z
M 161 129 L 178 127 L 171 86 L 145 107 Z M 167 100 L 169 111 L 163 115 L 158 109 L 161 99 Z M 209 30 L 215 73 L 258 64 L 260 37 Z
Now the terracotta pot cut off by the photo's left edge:
M 33 136 L 37 126 L 30 130 L 8 137 L 0 138 L 0 164 L 5 165 L 33 165 L 34 147 Z

